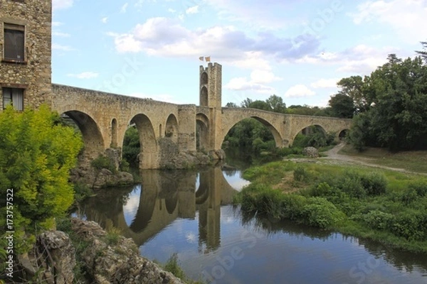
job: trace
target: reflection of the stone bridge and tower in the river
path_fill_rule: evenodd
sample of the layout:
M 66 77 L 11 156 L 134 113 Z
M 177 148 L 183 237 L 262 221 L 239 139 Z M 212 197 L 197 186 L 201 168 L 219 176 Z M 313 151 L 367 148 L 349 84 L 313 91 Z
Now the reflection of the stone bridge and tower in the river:
M 220 167 L 199 173 L 142 170 L 141 178 L 142 183 L 134 187 L 98 192 L 81 204 L 80 215 L 106 230 L 120 229 L 137 246 L 176 218 L 194 219 L 197 215 L 199 247 L 204 246 L 207 251 L 218 249 L 221 205 L 231 204 L 238 192 L 228 184 Z

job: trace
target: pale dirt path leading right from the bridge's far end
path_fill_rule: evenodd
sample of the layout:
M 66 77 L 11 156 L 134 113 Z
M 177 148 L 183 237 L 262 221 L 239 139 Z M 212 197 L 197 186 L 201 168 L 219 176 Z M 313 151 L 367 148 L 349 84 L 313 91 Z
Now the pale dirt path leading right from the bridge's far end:
M 365 165 L 368 167 L 373 167 L 373 168 L 382 168 L 385 170 L 395 170 L 396 172 L 400 172 L 400 173 L 411 173 L 411 174 L 416 174 L 416 175 L 427 175 L 426 173 L 416 173 L 416 172 L 412 172 L 410 170 L 405 170 L 402 168 L 390 168 L 387 167 L 385 165 L 377 165 L 376 163 L 374 163 L 374 158 L 364 158 L 364 157 L 357 157 L 357 156 L 351 156 L 351 155 L 342 155 L 339 154 L 339 150 L 342 149 L 342 147 L 344 147 L 345 143 L 339 143 L 337 146 L 335 146 L 334 148 L 332 148 L 330 151 L 326 151 L 325 154 L 327 155 L 327 157 L 322 157 L 319 158 L 319 160 L 325 160 L 329 163 L 333 163 L 333 164 L 357 164 L 357 165 Z

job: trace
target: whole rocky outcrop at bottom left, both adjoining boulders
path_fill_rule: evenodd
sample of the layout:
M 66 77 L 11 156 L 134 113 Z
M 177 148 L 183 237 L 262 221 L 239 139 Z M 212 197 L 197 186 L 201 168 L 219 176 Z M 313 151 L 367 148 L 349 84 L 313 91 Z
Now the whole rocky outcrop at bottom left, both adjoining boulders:
M 46 231 L 37 237 L 31 253 L 19 256 L 27 280 L 36 283 L 69 284 L 184 284 L 172 273 L 139 256 L 132 239 L 109 237 L 95 222 L 71 219 L 74 237 L 87 248 L 80 253 L 80 271 L 85 279 L 76 279 L 75 248 L 63 231 Z

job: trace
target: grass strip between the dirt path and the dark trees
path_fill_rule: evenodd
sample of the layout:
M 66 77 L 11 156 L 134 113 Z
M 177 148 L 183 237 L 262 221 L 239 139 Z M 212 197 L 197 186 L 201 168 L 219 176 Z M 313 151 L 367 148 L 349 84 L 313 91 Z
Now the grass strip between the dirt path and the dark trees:
M 390 153 L 384 148 L 367 148 L 358 152 L 352 146 L 346 145 L 339 152 L 342 155 L 352 155 L 369 158 L 369 163 L 384 165 L 390 168 L 401 168 L 414 173 L 427 173 L 427 151 L 402 151 Z

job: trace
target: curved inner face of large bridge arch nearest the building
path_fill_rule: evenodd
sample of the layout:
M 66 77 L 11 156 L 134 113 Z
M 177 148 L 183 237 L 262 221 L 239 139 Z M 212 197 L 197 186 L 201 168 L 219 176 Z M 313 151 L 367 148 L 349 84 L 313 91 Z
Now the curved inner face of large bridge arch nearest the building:
M 85 143 L 83 152 L 85 158 L 96 158 L 104 152 L 104 138 L 102 138 L 100 127 L 89 114 L 78 110 L 64 111 L 63 114 L 65 119 L 71 119 L 80 129 Z

